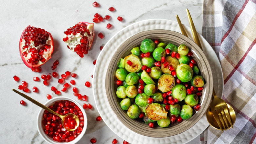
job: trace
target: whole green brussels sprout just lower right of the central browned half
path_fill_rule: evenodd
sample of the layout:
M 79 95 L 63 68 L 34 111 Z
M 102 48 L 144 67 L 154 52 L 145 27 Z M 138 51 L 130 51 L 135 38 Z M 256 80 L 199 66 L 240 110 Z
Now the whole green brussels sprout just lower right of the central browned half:
M 172 97 L 177 98 L 178 101 L 182 101 L 183 99 L 185 99 L 186 95 L 186 87 L 182 84 L 177 84 L 172 89 Z

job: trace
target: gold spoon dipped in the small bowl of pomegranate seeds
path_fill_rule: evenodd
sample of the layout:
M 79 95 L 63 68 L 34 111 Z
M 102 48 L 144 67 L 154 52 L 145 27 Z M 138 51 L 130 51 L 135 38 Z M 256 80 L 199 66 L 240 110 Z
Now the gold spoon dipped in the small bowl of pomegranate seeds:
M 68 113 L 68 114 L 66 114 L 66 115 L 60 115 L 60 114 L 54 112 L 53 110 L 51 110 L 50 108 L 46 107 L 45 105 L 43 105 L 43 104 L 39 103 L 38 101 L 32 99 L 31 97 L 27 96 L 26 94 L 21 93 L 21 92 L 15 90 L 15 89 L 12 89 L 12 91 L 18 93 L 19 95 L 23 96 L 24 98 L 26 98 L 27 100 L 31 101 L 32 103 L 38 105 L 39 107 L 45 109 L 46 111 L 48 111 L 48 112 L 50 112 L 50 113 L 53 113 L 53 114 L 59 116 L 60 119 L 61 119 L 61 122 L 62 122 L 62 126 L 63 126 L 66 130 L 68 130 L 68 131 L 75 131 L 75 130 L 77 129 L 77 127 L 79 126 L 79 118 L 78 118 L 75 114 L 73 114 L 73 113 Z M 75 128 L 74 128 L 74 129 L 67 129 L 67 128 L 64 126 L 64 121 L 66 120 L 66 118 L 69 118 L 69 117 L 72 117 L 72 118 L 76 121 L 76 125 L 75 125 Z

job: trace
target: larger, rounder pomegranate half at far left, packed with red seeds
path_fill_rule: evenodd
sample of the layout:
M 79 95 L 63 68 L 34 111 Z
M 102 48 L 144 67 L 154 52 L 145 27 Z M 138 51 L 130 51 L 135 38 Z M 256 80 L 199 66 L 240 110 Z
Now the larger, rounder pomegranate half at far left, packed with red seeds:
M 19 49 L 23 63 L 29 68 L 37 68 L 51 58 L 53 37 L 44 29 L 29 25 L 21 34 Z

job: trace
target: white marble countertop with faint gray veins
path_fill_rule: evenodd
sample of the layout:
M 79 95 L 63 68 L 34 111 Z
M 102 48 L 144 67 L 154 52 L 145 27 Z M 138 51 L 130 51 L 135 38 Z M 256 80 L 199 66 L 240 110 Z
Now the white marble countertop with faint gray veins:
M 114 138 L 123 142 L 123 139 L 114 134 L 104 123 L 97 122 L 95 119 L 99 116 L 95 102 L 93 99 L 92 87 L 84 86 L 85 81 L 92 82 L 93 61 L 97 59 L 100 53 L 100 46 L 104 46 L 107 41 L 122 28 L 141 20 L 162 18 L 176 21 L 175 15 L 178 14 L 181 22 L 189 25 L 186 8 L 190 10 L 194 24 L 199 33 L 202 28 L 202 3 L 203 0 L 162 0 L 162 1 L 97 1 L 99 8 L 92 6 L 94 1 L 52 1 L 52 0 L 24 0 L 22 3 L 16 1 L 2 1 L 0 9 L 0 39 L 1 50 L 0 57 L 0 93 L 1 94 L 1 115 L 0 116 L 0 135 L 1 143 L 11 144 L 27 144 L 27 143 L 46 143 L 39 135 L 36 127 L 36 118 L 39 107 L 32 104 L 28 100 L 14 93 L 11 89 L 18 89 L 21 81 L 28 83 L 28 88 L 32 91 L 34 86 L 38 87 L 39 93 L 28 93 L 35 100 L 45 103 L 46 95 L 57 97 L 51 91 L 51 86 L 61 89 L 63 86 L 57 83 L 57 79 L 52 78 L 49 86 L 44 86 L 42 80 L 35 82 L 33 77 L 40 77 L 41 74 L 50 74 L 53 72 L 51 66 L 55 60 L 59 60 L 59 65 L 55 71 L 63 74 L 66 71 L 74 72 L 78 75 L 75 79 L 76 87 L 79 92 L 88 96 L 85 103 L 90 103 L 94 108 L 86 109 L 88 126 L 85 135 L 78 143 L 89 144 L 90 139 L 97 138 L 97 143 L 111 143 Z M 108 11 L 109 7 L 114 7 L 115 12 Z M 80 21 L 92 22 L 95 13 L 99 13 L 103 17 L 110 15 L 109 21 L 104 21 L 94 25 L 95 39 L 89 54 L 80 58 L 75 52 L 67 49 L 66 44 L 62 41 L 64 31 Z M 124 18 L 123 22 L 117 20 L 117 16 Z M 112 29 L 106 29 L 107 23 L 113 25 Z M 51 32 L 54 39 L 54 52 L 52 58 L 42 66 L 41 73 L 32 72 L 27 68 L 19 55 L 19 40 L 22 31 L 28 26 L 35 26 Z M 98 38 L 97 34 L 102 32 L 105 37 Z M 20 78 L 19 82 L 15 82 L 13 76 Z M 41 78 L 40 78 L 41 79 Z M 72 78 L 69 77 L 67 82 Z M 62 92 L 61 96 L 67 96 L 76 99 L 72 94 L 71 88 L 67 92 Z M 27 106 L 20 105 L 20 101 L 24 100 Z M 76 99 L 77 100 L 77 99 Z M 77 100 L 81 105 L 84 101 Z M 196 137 L 189 143 L 199 143 L 199 137 Z

